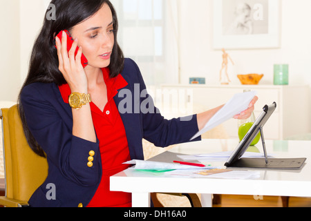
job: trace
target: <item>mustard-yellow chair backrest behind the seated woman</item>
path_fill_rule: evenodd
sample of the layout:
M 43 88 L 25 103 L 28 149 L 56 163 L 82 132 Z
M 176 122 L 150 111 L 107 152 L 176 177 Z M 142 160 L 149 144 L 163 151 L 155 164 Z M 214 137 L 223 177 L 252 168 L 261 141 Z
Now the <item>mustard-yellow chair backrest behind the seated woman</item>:
M 23 133 L 18 106 L 1 109 L 6 197 L 28 202 L 32 193 L 46 180 L 48 162 L 36 155 Z

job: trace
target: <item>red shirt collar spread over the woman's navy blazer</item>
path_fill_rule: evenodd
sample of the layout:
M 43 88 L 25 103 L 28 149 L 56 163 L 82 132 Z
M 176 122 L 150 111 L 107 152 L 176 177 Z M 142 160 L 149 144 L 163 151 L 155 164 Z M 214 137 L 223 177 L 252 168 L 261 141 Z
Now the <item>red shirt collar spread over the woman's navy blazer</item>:
M 117 90 L 124 88 L 128 85 L 126 80 L 122 75 L 117 75 L 117 77 L 109 77 L 109 68 L 102 68 L 102 73 L 104 75 L 104 81 L 107 87 L 107 97 L 108 100 L 117 95 Z M 63 84 L 59 86 L 59 91 L 64 99 L 64 102 L 68 104 L 68 97 L 71 94 L 71 90 L 68 84 Z

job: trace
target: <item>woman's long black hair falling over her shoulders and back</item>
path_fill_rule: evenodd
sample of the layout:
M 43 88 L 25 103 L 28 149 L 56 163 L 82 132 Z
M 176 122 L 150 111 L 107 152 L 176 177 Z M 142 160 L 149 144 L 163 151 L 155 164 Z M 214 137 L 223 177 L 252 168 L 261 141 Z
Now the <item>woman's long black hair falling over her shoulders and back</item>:
M 28 75 L 21 91 L 25 86 L 35 82 L 46 84 L 55 83 L 58 86 L 66 84 L 66 80 L 58 68 L 59 61 L 53 39 L 60 31 L 70 31 L 73 26 L 76 26 L 94 15 L 102 8 L 104 3 L 108 4 L 111 9 L 113 15 L 113 29 L 115 30 L 115 45 L 113 46 L 111 63 L 109 64 L 110 77 L 116 77 L 122 72 L 124 68 L 124 55 L 120 46 L 117 44 L 117 15 L 112 3 L 109 0 L 53 0 L 50 2 L 50 6 L 55 7 L 55 19 L 48 16 L 44 19 L 43 27 L 32 48 Z M 50 13 L 50 8 L 46 10 L 46 15 L 48 15 L 48 13 Z M 21 93 L 19 94 L 19 115 L 30 148 L 38 155 L 45 157 L 44 151 L 36 142 L 27 126 L 23 106 L 21 104 Z

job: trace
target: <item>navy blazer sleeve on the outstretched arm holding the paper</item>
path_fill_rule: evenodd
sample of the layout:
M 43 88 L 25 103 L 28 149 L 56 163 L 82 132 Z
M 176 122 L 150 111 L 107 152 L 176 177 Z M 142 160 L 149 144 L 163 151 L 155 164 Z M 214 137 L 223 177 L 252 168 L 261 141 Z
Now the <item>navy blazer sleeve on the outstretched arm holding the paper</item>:
M 179 117 L 170 120 L 164 119 L 158 108 L 154 105 L 152 97 L 147 93 L 144 79 L 142 78 L 137 64 L 135 64 L 135 62 L 133 63 L 140 81 L 140 92 L 146 92 L 145 97 L 140 97 L 141 107 L 144 108 L 144 106 L 147 106 L 148 108 L 148 111 L 141 110 L 144 112 L 142 113 L 144 138 L 159 147 L 190 142 L 191 137 L 198 132 L 197 115 Z M 144 93 L 142 93 L 142 95 L 143 94 Z M 201 137 L 198 137 L 193 141 L 199 140 L 201 140 Z

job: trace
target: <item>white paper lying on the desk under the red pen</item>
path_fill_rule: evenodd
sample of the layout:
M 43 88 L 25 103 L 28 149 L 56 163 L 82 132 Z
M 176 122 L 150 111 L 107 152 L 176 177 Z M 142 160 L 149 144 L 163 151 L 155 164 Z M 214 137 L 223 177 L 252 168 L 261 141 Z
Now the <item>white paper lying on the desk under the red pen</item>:
M 182 165 L 182 164 L 174 164 L 174 163 L 165 163 L 165 162 L 153 162 L 153 161 L 145 161 L 145 160 L 131 160 L 125 162 L 123 164 L 135 164 L 135 170 L 191 170 L 191 169 L 219 169 L 217 166 L 205 166 L 205 167 L 198 167 L 198 166 L 189 166 L 189 165 Z

